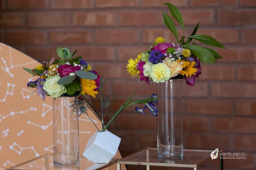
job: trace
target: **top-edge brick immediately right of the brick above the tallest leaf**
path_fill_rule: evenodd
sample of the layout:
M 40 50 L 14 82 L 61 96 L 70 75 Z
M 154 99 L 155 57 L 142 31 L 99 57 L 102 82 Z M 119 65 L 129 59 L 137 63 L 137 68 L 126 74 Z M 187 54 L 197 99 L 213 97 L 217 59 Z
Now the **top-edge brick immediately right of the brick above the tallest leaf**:
M 220 6 L 228 5 L 235 6 L 237 5 L 236 0 L 191 0 L 191 6 Z

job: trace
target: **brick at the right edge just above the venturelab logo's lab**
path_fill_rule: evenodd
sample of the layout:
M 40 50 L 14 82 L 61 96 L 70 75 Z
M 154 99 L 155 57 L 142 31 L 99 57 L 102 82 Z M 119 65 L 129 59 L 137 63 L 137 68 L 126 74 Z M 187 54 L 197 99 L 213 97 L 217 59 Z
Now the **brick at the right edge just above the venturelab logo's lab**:
M 256 151 L 256 136 L 249 135 L 235 135 L 234 149 Z

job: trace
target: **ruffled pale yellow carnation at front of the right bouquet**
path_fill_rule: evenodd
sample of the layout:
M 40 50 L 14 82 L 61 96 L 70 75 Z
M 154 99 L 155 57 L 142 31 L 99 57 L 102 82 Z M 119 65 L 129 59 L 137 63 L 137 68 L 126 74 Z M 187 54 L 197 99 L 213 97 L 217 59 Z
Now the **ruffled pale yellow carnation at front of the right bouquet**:
M 156 83 L 163 83 L 170 79 L 171 71 L 165 63 L 158 63 L 151 67 L 151 78 Z

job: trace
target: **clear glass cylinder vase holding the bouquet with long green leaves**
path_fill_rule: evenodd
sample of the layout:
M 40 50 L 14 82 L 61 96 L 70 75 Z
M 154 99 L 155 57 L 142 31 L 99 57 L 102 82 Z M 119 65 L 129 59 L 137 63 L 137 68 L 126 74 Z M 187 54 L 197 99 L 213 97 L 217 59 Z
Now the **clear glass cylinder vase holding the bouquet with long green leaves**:
M 158 157 L 183 156 L 180 87 L 182 79 L 158 83 L 157 153 Z

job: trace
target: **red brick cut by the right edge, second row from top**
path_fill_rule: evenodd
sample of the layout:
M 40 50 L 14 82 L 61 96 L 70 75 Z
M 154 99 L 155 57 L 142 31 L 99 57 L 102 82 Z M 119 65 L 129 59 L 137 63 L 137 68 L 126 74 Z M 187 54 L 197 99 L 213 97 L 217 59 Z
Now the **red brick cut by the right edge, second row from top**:
M 220 25 L 250 25 L 255 24 L 256 10 L 220 10 L 218 20 Z

